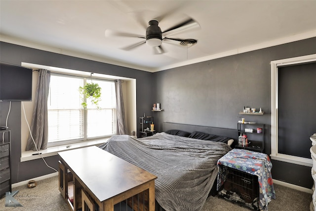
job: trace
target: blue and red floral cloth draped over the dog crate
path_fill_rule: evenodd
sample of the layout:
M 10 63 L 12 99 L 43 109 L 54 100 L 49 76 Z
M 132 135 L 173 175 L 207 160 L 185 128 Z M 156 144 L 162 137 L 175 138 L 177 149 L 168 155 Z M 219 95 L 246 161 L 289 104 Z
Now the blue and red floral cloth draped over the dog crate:
M 217 161 L 217 168 L 219 169 L 217 190 L 224 184 L 227 176 L 227 168 L 220 168 L 220 165 L 257 175 L 260 186 L 259 209 L 268 211 L 269 202 L 276 199 L 271 175 L 272 163 L 268 155 L 243 149 L 233 149 L 228 152 Z

